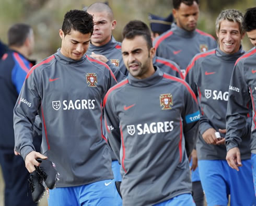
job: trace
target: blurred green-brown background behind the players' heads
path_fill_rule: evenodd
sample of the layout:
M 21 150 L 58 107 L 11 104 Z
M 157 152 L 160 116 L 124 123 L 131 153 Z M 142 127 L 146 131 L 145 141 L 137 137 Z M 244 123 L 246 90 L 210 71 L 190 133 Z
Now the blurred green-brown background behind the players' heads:
M 82 9 L 96 1 L 93 0 L 1 0 L 0 39 L 7 43 L 7 30 L 16 22 L 29 23 L 36 35 L 36 47 L 32 58 L 38 61 L 51 55 L 61 45 L 59 29 L 66 11 Z M 99 1 L 106 2 L 106 1 Z M 148 13 L 166 17 L 171 13 L 171 0 L 109 0 L 113 9 L 117 28 L 113 31 L 115 39 L 121 41 L 121 31 L 130 20 L 148 22 Z M 256 0 L 201 0 L 200 18 L 197 28 L 211 33 L 215 38 L 215 19 L 223 9 L 235 8 L 245 13 L 247 8 L 256 6 Z M 251 49 L 247 37 L 243 39 L 243 49 Z

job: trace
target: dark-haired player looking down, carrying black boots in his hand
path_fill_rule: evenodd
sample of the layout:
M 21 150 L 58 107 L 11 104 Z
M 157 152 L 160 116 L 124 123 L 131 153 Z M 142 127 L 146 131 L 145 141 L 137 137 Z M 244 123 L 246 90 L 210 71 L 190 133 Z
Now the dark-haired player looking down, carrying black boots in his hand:
M 60 173 L 49 205 L 114 205 L 115 189 L 107 139 L 102 135 L 102 100 L 117 81 L 104 63 L 85 55 L 94 29 L 82 10 L 65 14 L 61 48 L 28 73 L 14 108 L 15 150 L 30 173 L 38 158 Z M 41 153 L 31 144 L 31 122 L 39 111 Z

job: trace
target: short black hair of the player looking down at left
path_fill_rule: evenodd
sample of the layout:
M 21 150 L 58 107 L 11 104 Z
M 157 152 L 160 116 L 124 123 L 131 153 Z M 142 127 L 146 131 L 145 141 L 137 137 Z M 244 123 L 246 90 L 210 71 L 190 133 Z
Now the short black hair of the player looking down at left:
M 83 10 L 74 9 L 68 11 L 63 20 L 62 31 L 64 35 L 66 35 L 69 34 L 72 29 L 83 34 L 92 34 L 94 32 L 92 16 Z

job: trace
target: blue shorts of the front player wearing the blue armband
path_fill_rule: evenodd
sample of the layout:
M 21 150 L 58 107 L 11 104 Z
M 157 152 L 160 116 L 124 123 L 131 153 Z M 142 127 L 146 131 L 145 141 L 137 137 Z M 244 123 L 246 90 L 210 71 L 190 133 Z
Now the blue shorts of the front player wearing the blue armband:
M 155 206 L 195 206 L 191 194 L 182 194 L 174 198 L 154 204 Z

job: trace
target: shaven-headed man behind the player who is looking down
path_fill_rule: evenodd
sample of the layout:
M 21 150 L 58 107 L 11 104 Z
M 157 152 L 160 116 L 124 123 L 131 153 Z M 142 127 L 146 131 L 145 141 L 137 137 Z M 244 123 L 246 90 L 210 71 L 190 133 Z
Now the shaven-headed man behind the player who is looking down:
M 106 63 L 119 82 L 128 71 L 123 63 L 121 43 L 112 35 L 117 25 L 113 11 L 107 4 L 96 2 L 87 8 L 87 12 L 94 17 L 94 33 L 87 54 Z

